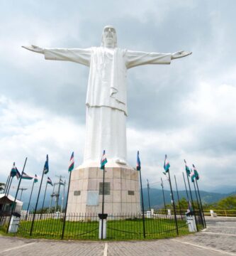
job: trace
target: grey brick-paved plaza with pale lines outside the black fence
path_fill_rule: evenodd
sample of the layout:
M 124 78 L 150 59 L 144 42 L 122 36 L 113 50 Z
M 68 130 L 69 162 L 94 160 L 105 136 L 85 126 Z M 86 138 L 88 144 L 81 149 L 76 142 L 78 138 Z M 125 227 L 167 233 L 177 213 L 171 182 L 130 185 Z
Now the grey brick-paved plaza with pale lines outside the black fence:
M 0 256 L 236 256 L 236 218 L 206 218 L 208 228 L 179 238 L 123 242 L 59 241 L 0 236 Z

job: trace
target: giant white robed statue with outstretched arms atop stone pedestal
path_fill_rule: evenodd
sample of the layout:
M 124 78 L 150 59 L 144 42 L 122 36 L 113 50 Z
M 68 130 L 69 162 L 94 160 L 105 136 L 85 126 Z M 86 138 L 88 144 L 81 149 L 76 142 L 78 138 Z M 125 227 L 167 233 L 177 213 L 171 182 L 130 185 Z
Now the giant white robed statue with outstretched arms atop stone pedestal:
M 83 164 L 87 166 L 100 161 L 103 149 L 111 161 L 126 164 L 127 70 L 137 65 L 170 64 L 171 60 L 191 54 L 120 49 L 113 26 L 103 28 L 101 47 L 23 48 L 43 53 L 46 60 L 67 60 L 89 67 Z

